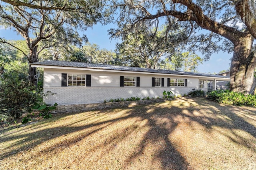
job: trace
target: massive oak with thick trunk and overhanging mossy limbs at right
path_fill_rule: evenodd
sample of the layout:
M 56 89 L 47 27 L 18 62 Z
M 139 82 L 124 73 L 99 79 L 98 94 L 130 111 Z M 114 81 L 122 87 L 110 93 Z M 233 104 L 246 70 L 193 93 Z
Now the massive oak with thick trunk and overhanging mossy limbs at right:
M 230 65 L 232 91 L 254 93 L 256 79 L 256 3 L 254 0 L 125 0 L 114 6 L 120 9 L 115 34 L 135 28 L 149 28 L 154 20 L 165 18 L 167 26 L 182 23 L 184 29 L 193 29 L 190 47 L 206 53 L 220 49 L 233 51 Z M 129 12 L 127 12 L 129 11 Z M 125 18 L 125 19 L 124 19 Z M 198 34 L 201 29 L 208 30 Z M 113 30 L 112 30 L 113 32 Z M 222 46 L 218 42 L 226 39 Z M 214 40 L 216 43 L 214 43 Z M 232 45 L 230 47 L 229 45 Z

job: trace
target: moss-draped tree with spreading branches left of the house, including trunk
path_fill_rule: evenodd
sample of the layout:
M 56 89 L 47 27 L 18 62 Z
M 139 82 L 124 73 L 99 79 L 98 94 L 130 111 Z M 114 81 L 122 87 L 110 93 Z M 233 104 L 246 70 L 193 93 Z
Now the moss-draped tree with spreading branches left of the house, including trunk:
M 39 53 L 46 48 L 61 43 L 82 44 L 87 40 L 80 38 L 76 30 L 86 30 L 100 20 L 102 3 L 95 0 L 1 0 L 0 25 L 12 28 L 25 40 L 26 51 L 16 44 L 0 38 L 0 43 L 6 43 L 18 49 L 28 59 L 29 63 L 37 62 Z M 34 78 L 36 68 L 29 68 L 29 81 L 36 83 Z

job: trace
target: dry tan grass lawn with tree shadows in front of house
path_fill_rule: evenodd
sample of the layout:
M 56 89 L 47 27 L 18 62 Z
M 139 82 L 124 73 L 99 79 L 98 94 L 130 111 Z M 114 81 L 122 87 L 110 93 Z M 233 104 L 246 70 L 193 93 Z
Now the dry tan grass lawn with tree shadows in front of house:
M 254 169 L 256 109 L 204 98 L 1 129 L 0 169 Z

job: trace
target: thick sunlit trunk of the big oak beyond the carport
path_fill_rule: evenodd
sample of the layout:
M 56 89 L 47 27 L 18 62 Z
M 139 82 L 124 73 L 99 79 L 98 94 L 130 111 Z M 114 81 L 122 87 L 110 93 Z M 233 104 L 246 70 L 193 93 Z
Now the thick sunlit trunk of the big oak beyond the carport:
M 252 50 L 253 38 L 240 38 L 234 43 L 234 54 L 230 65 L 230 90 L 245 94 L 254 94 L 256 79 L 256 54 Z

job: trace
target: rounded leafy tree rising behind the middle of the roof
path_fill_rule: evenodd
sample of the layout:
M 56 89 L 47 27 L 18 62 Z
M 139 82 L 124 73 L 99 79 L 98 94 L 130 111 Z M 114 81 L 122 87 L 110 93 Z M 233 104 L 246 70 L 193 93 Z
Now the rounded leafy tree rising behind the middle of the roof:
M 173 34 L 166 35 L 166 30 L 141 29 L 126 34 L 123 42 L 116 44 L 117 53 L 127 65 L 155 69 L 161 57 L 169 57 L 174 52 L 174 44 L 179 43 L 173 40 Z

